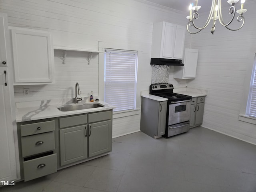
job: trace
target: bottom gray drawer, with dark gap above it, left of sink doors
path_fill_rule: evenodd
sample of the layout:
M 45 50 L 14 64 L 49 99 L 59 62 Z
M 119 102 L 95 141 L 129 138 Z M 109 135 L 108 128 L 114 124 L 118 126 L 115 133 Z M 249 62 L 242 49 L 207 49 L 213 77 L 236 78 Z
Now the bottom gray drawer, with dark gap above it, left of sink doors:
M 23 162 L 24 181 L 57 172 L 57 155 L 52 154 Z

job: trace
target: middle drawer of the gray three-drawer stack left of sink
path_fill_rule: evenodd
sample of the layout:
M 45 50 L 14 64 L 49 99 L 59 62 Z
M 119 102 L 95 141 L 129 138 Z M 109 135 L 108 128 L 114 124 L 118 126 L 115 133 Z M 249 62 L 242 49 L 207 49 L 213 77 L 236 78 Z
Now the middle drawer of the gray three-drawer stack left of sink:
M 21 149 L 23 157 L 54 150 L 54 132 L 22 137 Z

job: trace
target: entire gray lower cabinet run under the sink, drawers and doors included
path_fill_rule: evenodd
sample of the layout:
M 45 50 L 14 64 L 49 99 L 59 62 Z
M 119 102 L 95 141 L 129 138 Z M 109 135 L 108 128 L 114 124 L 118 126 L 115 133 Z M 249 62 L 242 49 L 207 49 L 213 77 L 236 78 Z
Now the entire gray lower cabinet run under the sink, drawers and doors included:
M 21 179 L 112 151 L 112 110 L 17 123 Z

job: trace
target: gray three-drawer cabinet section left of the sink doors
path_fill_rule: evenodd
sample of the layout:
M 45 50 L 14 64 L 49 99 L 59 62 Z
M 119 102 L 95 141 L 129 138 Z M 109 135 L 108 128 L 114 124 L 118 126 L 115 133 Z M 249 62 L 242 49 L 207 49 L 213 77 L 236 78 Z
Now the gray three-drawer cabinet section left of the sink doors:
M 57 172 L 55 120 L 17 124 L 21 178 L 29 181 Z

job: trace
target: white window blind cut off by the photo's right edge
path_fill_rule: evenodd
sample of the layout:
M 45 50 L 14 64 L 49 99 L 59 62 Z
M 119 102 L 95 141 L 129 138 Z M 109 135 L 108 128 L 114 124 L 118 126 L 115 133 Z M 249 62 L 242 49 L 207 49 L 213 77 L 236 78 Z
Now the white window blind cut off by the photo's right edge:
M 248 106 L 249 106 L 248 115 L 256 118 L 256 59 L 254 61 L 254 68 L 253 68 L 253 72 L 252 72 L 252 80 L 251 80 L 251 86 L 250 86 L 250 97 L 249 97 Z

